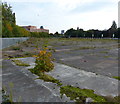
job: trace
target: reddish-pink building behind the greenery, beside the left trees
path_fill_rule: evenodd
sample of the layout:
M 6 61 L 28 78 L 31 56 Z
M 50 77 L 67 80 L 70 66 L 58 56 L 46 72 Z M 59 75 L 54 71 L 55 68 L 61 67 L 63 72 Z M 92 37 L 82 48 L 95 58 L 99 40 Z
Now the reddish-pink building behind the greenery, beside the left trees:
M 36 26 L 22 26 L 22 27 L 30 32 L 47 32 L 47 33 L 49 33 L 48 29 L 37 28 Z

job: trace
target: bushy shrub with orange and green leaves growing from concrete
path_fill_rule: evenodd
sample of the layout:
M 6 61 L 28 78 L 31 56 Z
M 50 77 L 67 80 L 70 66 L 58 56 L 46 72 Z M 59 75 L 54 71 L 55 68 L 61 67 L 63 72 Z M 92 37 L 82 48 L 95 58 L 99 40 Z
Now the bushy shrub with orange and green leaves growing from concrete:
M 34 57 L 36 57 L 36 65 L 34 67 L 34 70 L 36 72 L 48 72 L 53 70 L 54 64 L 52 62 L 52 52 L 47 52 L 46 47 L 43 47 L 43 49 L 38 53 L 38 55 L 35 55 Z

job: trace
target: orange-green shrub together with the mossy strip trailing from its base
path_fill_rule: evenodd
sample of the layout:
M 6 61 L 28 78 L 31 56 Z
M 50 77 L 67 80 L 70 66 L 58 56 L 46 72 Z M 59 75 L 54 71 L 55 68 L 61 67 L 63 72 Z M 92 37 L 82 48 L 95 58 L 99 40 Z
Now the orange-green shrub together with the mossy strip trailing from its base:
M 45 73 L 54 69 L 54 64 L 52 62 L 54 59 L 52 58 L 51 51 L 53 50 L 48 49 L 46 44 L 43 45 L 42 50 L 40 50 L 37 55 L 34 55 L 34 57 L 36 57 L 35 67 L 29 70 L 39 76 L 39 78 L 37 79 L 42 79 L 47 82 L 53 82 L 56 83 L 58 86 L 61 86 L 62 83 L 60 83 L 59 80 Z

